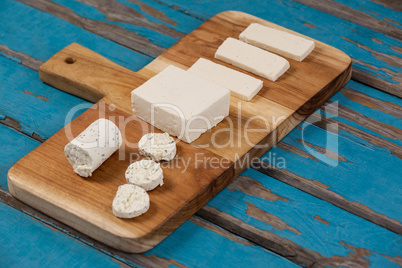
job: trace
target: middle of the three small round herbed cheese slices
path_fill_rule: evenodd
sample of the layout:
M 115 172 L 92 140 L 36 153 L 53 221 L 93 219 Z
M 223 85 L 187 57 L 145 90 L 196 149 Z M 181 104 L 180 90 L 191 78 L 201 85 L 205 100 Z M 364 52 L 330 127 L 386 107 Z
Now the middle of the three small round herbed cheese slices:
M 126 180 L 145 191 L 150 191 L 158 185 L 163 185 L 163 171 L 159 163 L 153 160 L 141 160 L 128 166 Z

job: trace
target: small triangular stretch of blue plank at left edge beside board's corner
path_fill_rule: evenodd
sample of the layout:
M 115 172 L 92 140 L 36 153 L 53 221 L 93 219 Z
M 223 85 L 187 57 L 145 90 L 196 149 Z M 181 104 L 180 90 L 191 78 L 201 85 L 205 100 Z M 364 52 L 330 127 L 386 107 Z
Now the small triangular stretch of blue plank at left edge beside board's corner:
M 0 188 L 8 189 L 7 172 L 10 167 L 39 144 L 38 141 L 0 124 Z

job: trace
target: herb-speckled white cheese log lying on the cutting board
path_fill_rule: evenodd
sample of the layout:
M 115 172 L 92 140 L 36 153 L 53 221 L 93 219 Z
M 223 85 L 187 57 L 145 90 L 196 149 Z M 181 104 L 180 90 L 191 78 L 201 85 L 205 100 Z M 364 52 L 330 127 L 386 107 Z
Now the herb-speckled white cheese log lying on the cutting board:
M 112 121 L 101 118 L 70 141 L 64 147 L 64 153 L 75 173 L 89 177 L 120 148 L 122 141 L 119 128 Z

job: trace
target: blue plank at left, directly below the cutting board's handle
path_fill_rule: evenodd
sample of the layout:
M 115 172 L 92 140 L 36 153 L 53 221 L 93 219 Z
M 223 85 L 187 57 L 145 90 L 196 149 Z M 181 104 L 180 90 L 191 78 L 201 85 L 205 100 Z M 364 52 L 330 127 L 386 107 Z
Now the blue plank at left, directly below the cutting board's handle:
M 0 116 L 11 117 L 22 132 L 47 139 L 66 125 L 66 115 L 76 108 L 74 118 L 92 104 L 44 84 L 36 71 L 0 56 Z

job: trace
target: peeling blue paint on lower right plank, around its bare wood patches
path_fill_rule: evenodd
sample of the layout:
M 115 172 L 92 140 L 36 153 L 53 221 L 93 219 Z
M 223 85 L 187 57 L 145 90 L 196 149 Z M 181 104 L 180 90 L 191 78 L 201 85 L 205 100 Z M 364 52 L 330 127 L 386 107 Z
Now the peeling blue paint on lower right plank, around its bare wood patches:
M 214 207 L 258 229 L 267 230 L 289 239 L 325 257 L 348 256 L 351 250 L 343 246 L 341 241 L 368 249 L 372 251 L 373 256 L 376 253 L 399 256 L 402 252 L 400 235 L 253 169 L 247 169 L 241 175 L 257 180 L 270 191 L 280 193 L 281 197 L 287 198 L 289 201 L 273 202 L 225 188 L 206 206 Z M 301 234 L 297 235 L 286 229 L 276 229 L 247 215 L 245 202 L 252 203 L 267 213 L 278 216 Z M 314 220 L 313 218 L 317 215 L 328 221 L 329 225 Z M 388 263 L 387 259 L 379 254 L 370 258 L 373 267 Z

